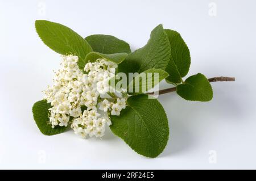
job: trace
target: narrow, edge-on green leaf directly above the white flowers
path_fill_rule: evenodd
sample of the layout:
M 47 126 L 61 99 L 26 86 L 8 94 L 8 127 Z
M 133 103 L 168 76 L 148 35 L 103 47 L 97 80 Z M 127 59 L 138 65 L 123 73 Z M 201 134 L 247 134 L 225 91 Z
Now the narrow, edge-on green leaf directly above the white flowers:
M 116 64 L 120 64 L 123 60 L 125 60 L 125 57 L 127 57 L 127 53 L 114 53 L 114 54 L 103 54 L 98 52 L 90 52 L 87 54 L 85 58 L 85 62 L 94 62 L 98 58 L 105 58 L 108 61 L 115 62 Z

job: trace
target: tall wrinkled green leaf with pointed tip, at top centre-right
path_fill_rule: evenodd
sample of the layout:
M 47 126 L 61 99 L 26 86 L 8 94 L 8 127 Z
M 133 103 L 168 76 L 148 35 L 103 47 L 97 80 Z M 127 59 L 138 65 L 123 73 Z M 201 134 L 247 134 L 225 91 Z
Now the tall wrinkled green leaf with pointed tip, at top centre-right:
M 147 44 L 135 52 L 130 53 L 122 64 L 119 64 L 118 71 L 126 73 L 142 73 L 147 69 L 166 69 L 171 57 L 171 48 L 168 37 L 163 30 L 162 24 L 155 27 L 150 35 Z

